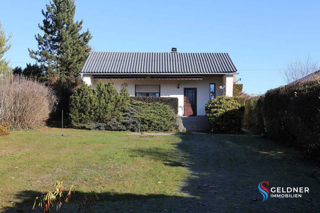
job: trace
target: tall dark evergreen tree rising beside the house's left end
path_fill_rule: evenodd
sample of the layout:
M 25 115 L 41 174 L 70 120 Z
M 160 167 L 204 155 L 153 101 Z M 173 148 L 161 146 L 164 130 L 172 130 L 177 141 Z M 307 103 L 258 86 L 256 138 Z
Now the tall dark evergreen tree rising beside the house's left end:
M 74 22 L 74 0 L 52 0 L 46 5 L 43 25 L 44 35 L 35 35 L 38 50 L 29 50 L 44 71 L 44 81 L 52 86 L 59 97 L 55 116 L 61 110 L 68 114 L 69 98 L 80 85 L 79 71 L 90 53 L 89 29 L 82 30 L 83 20 Z

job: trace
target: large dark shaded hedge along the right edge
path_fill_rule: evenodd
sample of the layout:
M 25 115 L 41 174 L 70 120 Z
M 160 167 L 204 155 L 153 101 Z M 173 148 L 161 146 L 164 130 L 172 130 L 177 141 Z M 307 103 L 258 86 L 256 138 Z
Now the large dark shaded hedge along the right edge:
M 268 135 L 320 160 L 320 82 L 286 85 L 266 92 L 262 111 Z

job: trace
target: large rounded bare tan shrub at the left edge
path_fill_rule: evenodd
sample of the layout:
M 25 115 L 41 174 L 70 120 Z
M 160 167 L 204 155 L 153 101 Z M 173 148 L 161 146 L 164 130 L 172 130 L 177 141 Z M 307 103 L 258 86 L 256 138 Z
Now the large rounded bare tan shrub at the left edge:
M 56 103 L 53 90 L 37 80 L 21 75 L 0 78 L 0 125 L 16 128 L 43 125 Z

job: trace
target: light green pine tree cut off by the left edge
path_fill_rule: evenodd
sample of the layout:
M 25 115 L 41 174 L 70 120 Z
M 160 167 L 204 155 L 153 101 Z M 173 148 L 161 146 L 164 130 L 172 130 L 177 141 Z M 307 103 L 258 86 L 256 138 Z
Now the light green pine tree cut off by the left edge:
M 12 71 L 11 67 L 9 67 L 10 61 L 6 61 L 6 58 L 4 58 L 4 53 L 11 47 L 11 43 L 6 44 L 11 37 L 12 34 L 9 34 L 8 38 L 5 36 L 4 29 L 0 22 L 0 76 L 10 74 Z

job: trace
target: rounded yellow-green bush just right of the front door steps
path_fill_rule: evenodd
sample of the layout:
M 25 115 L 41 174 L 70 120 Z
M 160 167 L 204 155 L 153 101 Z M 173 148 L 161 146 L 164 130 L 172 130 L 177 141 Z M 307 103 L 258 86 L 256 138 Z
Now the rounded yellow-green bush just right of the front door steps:
M 208 130 L 212 133 L 236 133 L 241 130 L 244 100 L 218 96 L 205 105 Z

